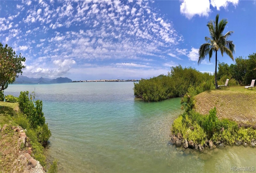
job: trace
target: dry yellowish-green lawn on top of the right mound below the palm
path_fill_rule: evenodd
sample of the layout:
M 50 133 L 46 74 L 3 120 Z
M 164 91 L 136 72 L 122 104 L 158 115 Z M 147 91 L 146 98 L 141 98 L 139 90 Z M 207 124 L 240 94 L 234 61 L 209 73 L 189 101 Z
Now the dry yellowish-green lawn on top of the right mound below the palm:
M 200 93 L 195 96 L 195 110 L 207 114 L 215 106 L 218 118 L 256 125 L 256 90 L 244 88 L 233 86 Z

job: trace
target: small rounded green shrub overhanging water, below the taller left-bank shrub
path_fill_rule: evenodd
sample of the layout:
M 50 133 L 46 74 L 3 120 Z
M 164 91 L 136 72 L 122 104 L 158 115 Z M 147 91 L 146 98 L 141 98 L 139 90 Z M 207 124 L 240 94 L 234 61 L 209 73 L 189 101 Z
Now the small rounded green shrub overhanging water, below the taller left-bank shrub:
M 38 142 L 40 142 L 43 146 L 46 146 L 48 139 L 52 135 L 51 131 L 48 129 L 48 124 L 38 126 L 36 129 L 36 135 L 38 138 Z

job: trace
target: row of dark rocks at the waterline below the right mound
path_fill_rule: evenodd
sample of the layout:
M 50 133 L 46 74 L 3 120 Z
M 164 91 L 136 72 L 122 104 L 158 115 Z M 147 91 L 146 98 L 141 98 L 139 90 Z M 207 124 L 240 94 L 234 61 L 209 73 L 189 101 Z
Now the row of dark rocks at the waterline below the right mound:
M 187 141 L 187 139 L 184 139 L 182 137 L 181 133 L 177 133 L 177 135 L 172 134 L 172 135 L 170 135 L 170 137 L 171 137 L 171 139 L 170 139 L 168 145 L 176 145 L 177 147 L 184 148 L 184 154 L 189 154 L 193 150 L 199 150 L 200 152 L 207 154 L 208 150 L 214 150 L 217 147 L 218 148 L 226 147 L 225 144 L 222 143 L 221 141 L 213 142 L 211 140 L 207 140 L 204 142 L 204 145 L 197 144 L 196 142 L 194 142 L 192 140 Z M 245 147 L 251 146 L 254 148 L 256 146 L 256 140 L 252 139 L 250 144 L 248 144 L 246 142 L 242 143 L 241 141 L 236 141 L 235 144 L 237 146 L 243 145 Z

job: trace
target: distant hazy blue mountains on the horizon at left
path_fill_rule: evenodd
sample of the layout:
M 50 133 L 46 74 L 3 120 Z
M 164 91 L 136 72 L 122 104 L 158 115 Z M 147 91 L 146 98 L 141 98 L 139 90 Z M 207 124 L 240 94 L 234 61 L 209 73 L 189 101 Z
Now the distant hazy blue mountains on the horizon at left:
M 16 78 L 15 82 L 13 83 L 28 83 L 28 84 L 50 84 L 50 83 L 67 83 L 72 82 L 69 78 L 56 78 L 56 79 L 49 79 L 49 78 L 28 78 L 27 76 L 19 75 Z

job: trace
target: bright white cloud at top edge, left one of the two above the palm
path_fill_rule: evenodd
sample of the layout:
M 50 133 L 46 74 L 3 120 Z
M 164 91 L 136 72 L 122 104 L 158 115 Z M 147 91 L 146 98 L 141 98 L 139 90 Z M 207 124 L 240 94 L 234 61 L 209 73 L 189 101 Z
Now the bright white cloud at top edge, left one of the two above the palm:
M 191 19 L 194 15 L 208 16 L 210 12 L 210 2 L 209 0 L 182 0 L 180 12 L 188 19 Z

